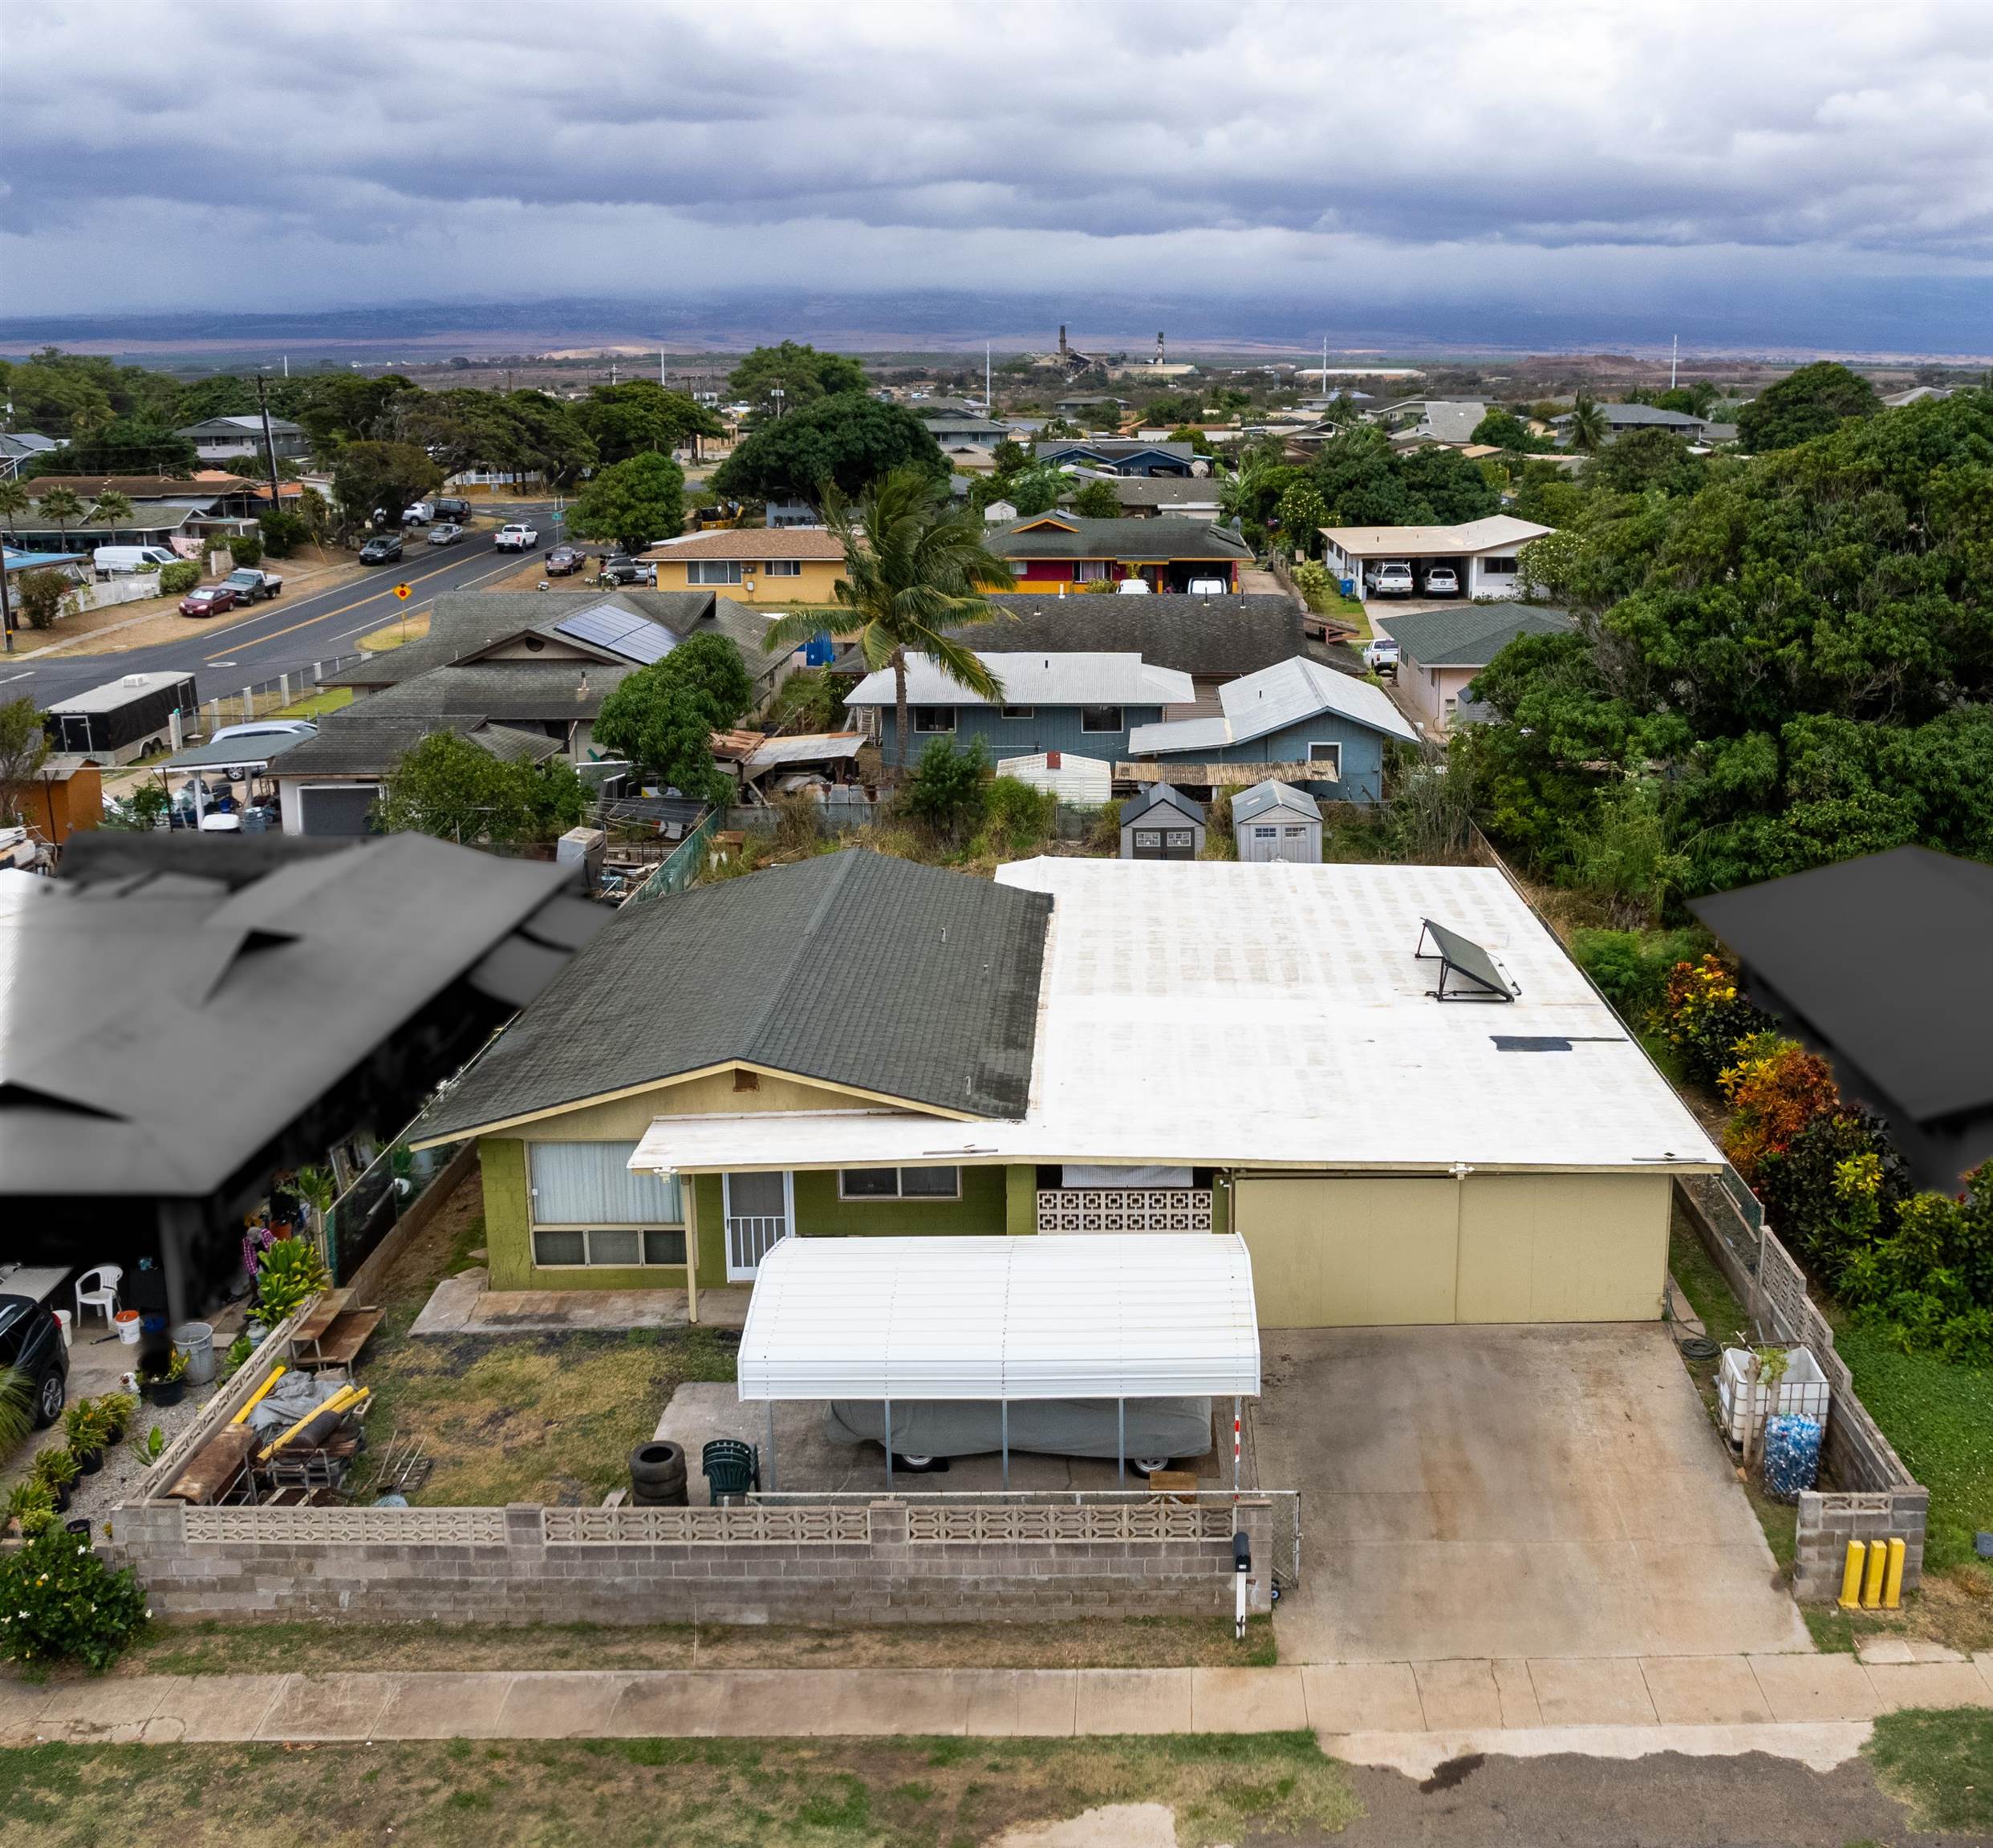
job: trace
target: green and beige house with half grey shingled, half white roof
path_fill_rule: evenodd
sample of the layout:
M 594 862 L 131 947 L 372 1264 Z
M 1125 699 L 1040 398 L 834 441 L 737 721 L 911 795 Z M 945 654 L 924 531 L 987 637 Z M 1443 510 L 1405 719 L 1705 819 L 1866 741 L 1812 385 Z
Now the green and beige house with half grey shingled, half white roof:
M 464 1137 L 496 1288 L 694 1314 L 791 1235 L 1098 1229 L 1242 1235 L 1266 1326 L 1656 1320 L 1720 1165 L 1501 872 L 865 850 L 622 910 Z

